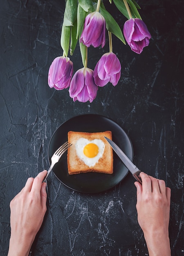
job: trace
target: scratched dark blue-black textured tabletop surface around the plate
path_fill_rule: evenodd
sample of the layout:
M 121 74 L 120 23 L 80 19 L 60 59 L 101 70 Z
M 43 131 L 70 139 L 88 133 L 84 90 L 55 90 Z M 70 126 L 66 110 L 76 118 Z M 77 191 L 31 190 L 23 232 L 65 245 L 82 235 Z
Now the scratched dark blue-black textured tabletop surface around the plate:
M 184 5 L 182 0 L 138 3 L 152 35 L 149 47 L 138 55 L 113 37 L 122 66 L 118 85 L 100 88 L 92 103 L 74 103 L 67 89 L 47 85 L 49 65 L 63 54 L 64 0 L 0 0 L 1 256 L 9 247 L 10 200 L 28 177 L 48 169 L 49 140 L 58 126 L 81 114 L 117 122 L 132 141 L 135 164 L 171 187 L 172 256 L 184 255 Z M 123 29 L 126 19 L 109 6 Z M 107 51 L 108 41 L 104 49 L 90 47 L 88 67 L 94 69 Z M 74 70 L 82 67 L 78 47 L 71 59 Z M 51 173 L 47 193 L 47 213 L 30 255 L 148 255 L 130 173 L 99 194 L 73 191 Z

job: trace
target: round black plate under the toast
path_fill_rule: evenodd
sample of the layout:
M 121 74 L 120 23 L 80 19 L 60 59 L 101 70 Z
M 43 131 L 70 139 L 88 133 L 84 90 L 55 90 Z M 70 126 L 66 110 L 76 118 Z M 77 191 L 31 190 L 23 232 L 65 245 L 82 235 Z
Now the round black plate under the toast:
M 52 135 L 49 142 L 48 157 L 51 157 L 65 141 L 68 131 L 76 132 L 103 132 L 112 131 L 112 140 L 132 160 L 132 143 L 124 130 L 114 121 L 101 115 L 79 115 L 65 121 Z M 113 151 L 113 174 L 80 173 L 69 175 L 67 170 L 67 153 L 55 164 L 53 171 L 56 177 L 70 189 L 84 193 L 99 193 L 116 186 L 127 175 L 128 169 Z

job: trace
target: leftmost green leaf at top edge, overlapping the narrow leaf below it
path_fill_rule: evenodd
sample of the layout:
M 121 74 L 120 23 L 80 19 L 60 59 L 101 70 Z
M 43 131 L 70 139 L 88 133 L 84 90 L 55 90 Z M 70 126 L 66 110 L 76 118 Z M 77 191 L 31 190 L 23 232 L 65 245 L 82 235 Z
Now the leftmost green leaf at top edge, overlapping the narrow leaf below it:
M 77 17 L 77 1 L 67 0 L 63 18 L 64 26 L 73 26 Z

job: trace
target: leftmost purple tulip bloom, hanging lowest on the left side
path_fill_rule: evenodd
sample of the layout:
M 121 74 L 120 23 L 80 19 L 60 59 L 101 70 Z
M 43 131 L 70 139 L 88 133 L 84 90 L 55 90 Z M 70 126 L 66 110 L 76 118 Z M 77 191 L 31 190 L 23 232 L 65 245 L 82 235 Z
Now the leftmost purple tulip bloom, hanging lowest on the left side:
M 70 86 L 73 63 L 68 57 L 57 57 L 49 67 L 48 84 L 50 88 L 62 90 Z

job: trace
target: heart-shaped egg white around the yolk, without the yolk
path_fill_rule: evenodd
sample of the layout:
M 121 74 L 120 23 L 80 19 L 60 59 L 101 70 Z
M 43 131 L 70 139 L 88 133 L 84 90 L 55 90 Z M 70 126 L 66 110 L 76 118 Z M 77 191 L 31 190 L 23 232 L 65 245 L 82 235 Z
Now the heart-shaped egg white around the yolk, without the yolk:
M 89 143 L 94 143 L 99 148 L 99 152 L 95 157 L 87 157 L 83 153 L 84 147 Z M 92 141 L 89 141 L 88 139 L 81 137 L 76 141 L 76 144 L 75 144 L 77 156 L 89 167 L 94 166 L 99 161 L 99 159 L 103 156 L 104 148 L 105 148 L 105 144 L 101 139 L 93 139 Z

